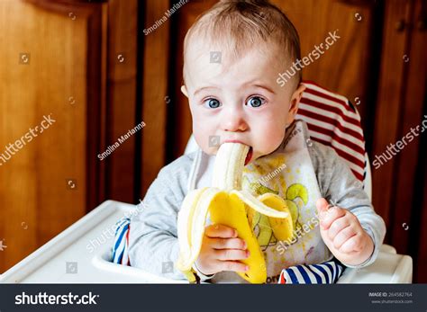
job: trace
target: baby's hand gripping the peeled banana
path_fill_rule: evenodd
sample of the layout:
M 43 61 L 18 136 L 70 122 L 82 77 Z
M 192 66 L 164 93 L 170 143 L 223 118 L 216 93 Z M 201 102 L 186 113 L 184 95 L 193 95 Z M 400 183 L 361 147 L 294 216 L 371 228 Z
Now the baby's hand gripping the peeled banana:
M 204 275 L 222 271 L 246 272 L 246 264 L 238 261 L 249 257 L 246 248 L 245 241 L 237 238 L 234 228 L 211 225 L 204 229 L 202 248 L 195 265 Z

